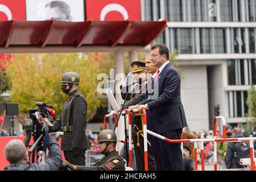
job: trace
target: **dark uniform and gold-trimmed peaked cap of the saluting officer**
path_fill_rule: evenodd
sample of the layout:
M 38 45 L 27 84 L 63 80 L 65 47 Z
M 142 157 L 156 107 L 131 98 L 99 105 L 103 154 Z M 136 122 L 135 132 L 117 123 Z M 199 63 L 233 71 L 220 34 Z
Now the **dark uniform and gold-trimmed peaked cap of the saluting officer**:
M 133 67 L 132 73 L 141 72 L 141 71 L 144 71 L 144 69 L 145 69 L 145 63 L 143 63 L 141 61 L 133 61 L 131 63 L 131 66 Z M 141 85 L 143 85 L 143 86 L 141 86 Z M 134 92 L 132 94 L 128 95 L 130 100 L 125 102 L 124 109 L 128 109 L 129 106 L 136 105 L 139 102 L 144 100 L 144 98 L 146 97 L 146 92 L 147 92 L 147 84 L 145 84 L 145 82 L 143 82 L 141 85 L 137 85 L 134 89 Z M 137 128 L 140 131 L 143 130 L 140 114 L 136 114 L 135 116 L 132 116 L 132 128 L 135 125 L 137 126 Z M 137 130 L 137 128 L 136 128 L 136 130 Z M 137 169 L 139 171 L 144 171 L 145 170 L 145 168 L 144 168 L 145 167 L 145 165 L 144 165 L 144 138 L 139 134 L 140 146 L 137 146 L 138 137 L 137 137 L 137 134 L 132 131 L 132 140 L 133 140 L 133 146 L 134 146 L 134 150 L 135 150 Z M 157 169 L 155 156 L 153 155 L 152 148 L 149 145 L 148 145 L 148 169 L 150 171 L 155 171 Z

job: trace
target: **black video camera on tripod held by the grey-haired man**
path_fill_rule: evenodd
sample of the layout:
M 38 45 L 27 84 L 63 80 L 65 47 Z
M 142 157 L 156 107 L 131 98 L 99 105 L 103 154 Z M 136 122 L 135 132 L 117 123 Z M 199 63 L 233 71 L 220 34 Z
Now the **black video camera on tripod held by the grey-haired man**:
M 47 143 L 48 143 L 48 131 L 49 127 L 44 122 L 43 118 L 48 118 L 53 122 L 55 111 L 51 105 L 48 105 L 44 102 L 36 102 L 38 109 L 30 109 L 29 117 L 30 119 L 25 119 L 23 123 L 23 130 L 26 130 L 26 138 L 24 144 L 26 147 L 29 146 L 31 136 L 34 138 L 34 143 L 30 146 L 29 156 L 32 155 L 32 162 L 34 162 L 34 152 L 44 151 L 46 152 Z

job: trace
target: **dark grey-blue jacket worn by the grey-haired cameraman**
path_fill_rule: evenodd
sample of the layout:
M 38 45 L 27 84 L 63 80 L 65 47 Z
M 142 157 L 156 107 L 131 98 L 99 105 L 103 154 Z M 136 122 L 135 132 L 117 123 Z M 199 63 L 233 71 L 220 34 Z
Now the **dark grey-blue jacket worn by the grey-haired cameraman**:
M 48 150 L 50 152 L 45 164 L 29 164 L 17 163 L 6 166 L 5 171 L 57 171 L 62 164 L 62 153 L 59 148 L 59 144 L 49 136 Z

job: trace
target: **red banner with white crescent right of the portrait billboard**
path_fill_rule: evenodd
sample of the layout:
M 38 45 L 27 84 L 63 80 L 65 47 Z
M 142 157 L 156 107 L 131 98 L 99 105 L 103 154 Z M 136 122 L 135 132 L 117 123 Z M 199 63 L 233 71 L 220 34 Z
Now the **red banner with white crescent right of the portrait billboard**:
M 86 0 L 87 20 L 140 20 L 140 0 Z

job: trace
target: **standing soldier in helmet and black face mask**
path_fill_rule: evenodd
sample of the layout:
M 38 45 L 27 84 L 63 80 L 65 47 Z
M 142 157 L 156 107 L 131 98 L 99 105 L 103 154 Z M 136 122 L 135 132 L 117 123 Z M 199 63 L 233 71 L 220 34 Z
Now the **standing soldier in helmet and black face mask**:
M 62 107 L 62 113 L 53 123 L 44 118 L 51 132 L 63 131 L 61 148 L 65 159 L 72 164 L 86 165 L 86 150 L 89 148 L 86 136 L 87 101 L 78 92 L 80 78 L 76 72 L 64 73 L 62 77 L 62 91 L 68 95 Z

